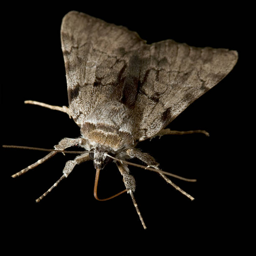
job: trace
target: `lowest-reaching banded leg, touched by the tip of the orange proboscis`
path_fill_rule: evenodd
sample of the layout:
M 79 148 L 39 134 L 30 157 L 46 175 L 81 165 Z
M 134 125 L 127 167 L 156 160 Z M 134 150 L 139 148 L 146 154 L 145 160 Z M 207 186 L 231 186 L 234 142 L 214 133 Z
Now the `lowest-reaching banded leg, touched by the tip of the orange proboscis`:
M 139 218 L 141 220 L 141 224 L 143 225 L 143 228 L 146 229 L 146 225 L 144 223 L 144 220 L 141 216 L 141 212 L 138 208 L 138 205 L 136 203 L 136 200 L 134 198 L 133 192 L 135 191 L 135 179 L 132 175 L 129 174 L 129 169 L 127 164 L 121 164 L 119 162 L 116 162 L 116 165 L 118 166 L 118 169 L 121 173 L 121 175 L 123 176 L 123 182 L 125 184 L 125 187 L 127 189 L 127 193 L 131 195 L 131 198 L 133 200 L 133 205 L 139 215 Z

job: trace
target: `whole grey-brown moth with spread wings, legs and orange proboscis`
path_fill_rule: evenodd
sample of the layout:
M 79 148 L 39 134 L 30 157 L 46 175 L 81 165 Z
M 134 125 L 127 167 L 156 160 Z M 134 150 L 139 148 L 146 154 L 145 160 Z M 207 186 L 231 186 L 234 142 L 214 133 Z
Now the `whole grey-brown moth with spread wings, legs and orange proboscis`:
M 58 151 L 71 146 L 84 148 L 67 161 L 63 175 L 36 201 L 45 197 L 68 177 L 74 166 L 92 160 L 96 169 L 94 195 L 108 200 L 123 192 L 131 195 L 143 228 L 146 225 L 136 204 L 135 179 L 129 173 L 128 159 L 143 161 L 177 190 L 159 168 L 156 160 L 136 145 L 166 134 L 205 133 L 164 129 L 198 97 L 220 82 L 235 66 L 238 53 L 228 49 L 197 48 L 173 40 L 146 44 L 136 32 L 106 23 L 90 15 L 71 11 L 61 24 L 61 48 L 67 76 L 69 107 L 28 100 L 67 113 L 81 129 L 79 138 L 64 138 L 44 158 L 20 174 L 38 166 Z M 109 162 L 117 165 L 125 190 L 106 199 L 97 197 L 100 170 Z

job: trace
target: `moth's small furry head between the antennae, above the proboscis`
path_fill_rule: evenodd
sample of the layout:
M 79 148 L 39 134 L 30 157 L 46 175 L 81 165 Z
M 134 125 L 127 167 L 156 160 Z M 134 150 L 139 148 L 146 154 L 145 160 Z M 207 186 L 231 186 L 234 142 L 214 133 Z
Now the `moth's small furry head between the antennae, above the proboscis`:
M 109 154 L 112 155 L 111 153 L 100 148 L 91 149 L 89 156 L 90 159 L 93 160 L 93 165 L 95 169 L 103 169 L 106 164 L 113 161 L 113 159 L 108 156 Z

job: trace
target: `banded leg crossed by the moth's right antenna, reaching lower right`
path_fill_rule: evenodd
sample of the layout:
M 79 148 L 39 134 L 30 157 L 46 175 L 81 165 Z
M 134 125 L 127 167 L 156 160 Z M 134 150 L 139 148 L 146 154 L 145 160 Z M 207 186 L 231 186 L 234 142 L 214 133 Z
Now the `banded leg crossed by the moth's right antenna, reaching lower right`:
M 158 167 L 159 163 L 156 162 L 156 160 L 154 159 L 153 156 L 147 154 L 147 153 L 143 153 L 141 152 L 139 149 L 137 148 L 133 148 L 133 149 L 128 149 L 126 151 L 126 153 L 131 157 L 136 157 L 138 159 L 140 159 L 141 161 L 143 161 L 144 163 L 146 163 L 148 165 L 148 167 L 153 167 L 159 171 L 161 171 L 161 169 Z M 179 186 L 177 186 L 176 184 L 174 184 L 169 178 L 167 178 L 164 174 L 159 173 L 160 176 L 162 178 L 165 179 L 165 181 L 169 184 L 171 184 L 175 189 L 177 189 L 179 192 L 181 192 L 183 195 L 185 195 L 186 197 L 188 197 L 190 200 L 194 200 L 195 198 L 192 197 L 191 195 L 189 195 L 187 192 L 185 192 L 183 189 L 181 189 Z

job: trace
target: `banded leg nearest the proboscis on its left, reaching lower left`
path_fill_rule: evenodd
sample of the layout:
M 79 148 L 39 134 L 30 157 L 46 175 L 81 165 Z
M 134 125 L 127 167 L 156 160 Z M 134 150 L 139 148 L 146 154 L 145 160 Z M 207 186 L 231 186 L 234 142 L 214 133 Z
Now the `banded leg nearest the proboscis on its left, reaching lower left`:
M 41 197 L 38 197 L 38 199 L 36 199 L 36 202 L 39 202 L 41 199 L 43 199 L 49 192 L 51 192 L 52 189 L 54 189 L 54 187 L 56 187 L 59 182 L 61 182 L 62 179 L 67 178 L 68 175 L 72 172 L 72 170 L 74 169 L 74 166 L 76 166 L 77 164 L 81 164 L 84 161 L 88 161 L 90 160 L 89 154 L 88 153 L 84 153 L 80 156 L 77 156 L 74 160 L 70 160 L 67 161 L 64 169 L 63 169 L 63 175 L 43 194 L 41 195 Z

